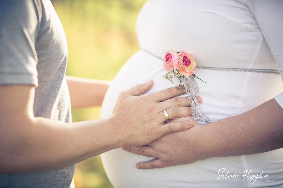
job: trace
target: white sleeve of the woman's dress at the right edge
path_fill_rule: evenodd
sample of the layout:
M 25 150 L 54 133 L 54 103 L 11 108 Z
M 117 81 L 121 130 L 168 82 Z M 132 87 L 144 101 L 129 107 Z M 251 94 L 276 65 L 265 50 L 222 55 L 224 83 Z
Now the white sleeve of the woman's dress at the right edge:
M 260 26 L 283 80 L 283 1 L 248 0 L 247 5 Z M 283 93 L 274 99 L 283 108 Z

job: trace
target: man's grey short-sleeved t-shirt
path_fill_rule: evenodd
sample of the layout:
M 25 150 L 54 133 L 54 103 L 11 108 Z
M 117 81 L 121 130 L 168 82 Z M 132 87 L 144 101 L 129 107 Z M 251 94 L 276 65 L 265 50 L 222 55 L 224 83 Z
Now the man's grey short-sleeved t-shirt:
M 34 116 L 71 122 L 67 41 L 49 0 L 0 0 L 0 85 L 35 85 Z M 70 187 L 75 165 L 1 174 L 0 187 Z

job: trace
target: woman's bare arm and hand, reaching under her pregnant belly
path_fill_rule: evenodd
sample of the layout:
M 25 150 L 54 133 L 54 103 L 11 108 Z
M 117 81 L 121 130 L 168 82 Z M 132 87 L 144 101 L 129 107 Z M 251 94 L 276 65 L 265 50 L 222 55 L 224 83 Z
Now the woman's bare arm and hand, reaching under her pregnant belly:
M 190 117 L 179 121 L 192 120 Z M 174 121 L 174 120 L 173 120 Z M 194 121 L 191 129 L 166 134 L 145 146 L 124 150 L 156 159 L 136 164 L 139 169 L 189 164 L 210 157 L 267 152 L 283 147 L 283 109 L 271 99 L 243 114 L 207 125 Z

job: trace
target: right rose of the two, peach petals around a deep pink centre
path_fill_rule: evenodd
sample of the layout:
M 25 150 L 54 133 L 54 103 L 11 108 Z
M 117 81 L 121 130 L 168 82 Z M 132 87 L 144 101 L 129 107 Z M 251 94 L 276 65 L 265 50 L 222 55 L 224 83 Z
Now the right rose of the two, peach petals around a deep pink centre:
M 177 54 L 177 57 L 179 60 L 176 68 L 179 70 L 180 74 L 186 77 L 191 76 L 196 68 L 193 54 L 182 50 Z

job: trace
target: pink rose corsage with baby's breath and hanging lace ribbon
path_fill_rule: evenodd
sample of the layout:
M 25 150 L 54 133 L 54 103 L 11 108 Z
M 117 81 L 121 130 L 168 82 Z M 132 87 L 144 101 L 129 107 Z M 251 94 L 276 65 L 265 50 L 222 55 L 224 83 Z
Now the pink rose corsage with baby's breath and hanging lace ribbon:
M 164 56 L 163 66 L 165 67 L 165 70 L 168 71 L 163 76 L 164 78 L 170 80 L 172 83 L 173 83 L 172 78 L 174 76 L 177 76 L 177 78 L 179 79 L 180 81 L 179 87 L 177 87 L 173 83 L 175 87 L 178 89 L 178 93 L 181 83 L 182 82 L 184 83 L 185 92 L 188 94 L 188 99 L 190 101 L 190 104 L 192 105 L 192 111 L 193 111 L 192 115 L 199 121 L 210 123 L 211 121 L 209 120 L 209 118 L 207 118 L 207 116 L 201 109 L 198 100 L 194 96 L 196 93 L 199 92 L 199 89 L 196 81 L 194 80 L 194 78 L 198 78 L 198 77 L 196 77 L 196 75 L 194 74 L 196 68 L 196 62 L 194 61 L 194 56 L 192 55 L 192 53 L 187 53 L 183 50 L 176 53 L 174 50 L 170 49 L 166 52 Z

